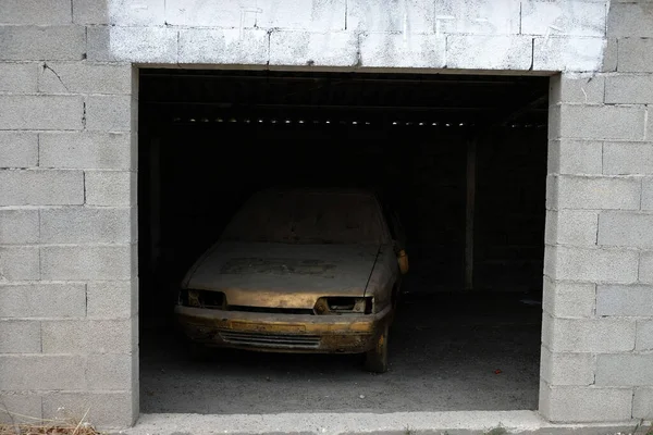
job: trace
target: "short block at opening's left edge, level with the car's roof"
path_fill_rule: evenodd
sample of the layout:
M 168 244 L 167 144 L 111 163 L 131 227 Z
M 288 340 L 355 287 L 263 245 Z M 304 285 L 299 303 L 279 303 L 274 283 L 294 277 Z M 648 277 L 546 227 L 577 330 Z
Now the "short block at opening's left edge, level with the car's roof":
M 86 203 L 90 206 L 135 206 L 136 174 L 133 172 L 86 172 Z

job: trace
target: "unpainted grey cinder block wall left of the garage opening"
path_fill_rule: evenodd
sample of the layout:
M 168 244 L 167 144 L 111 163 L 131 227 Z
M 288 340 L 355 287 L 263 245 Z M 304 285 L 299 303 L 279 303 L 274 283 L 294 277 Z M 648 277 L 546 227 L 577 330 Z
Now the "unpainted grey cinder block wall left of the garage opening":
M 3 1 L 0 23 L 0 421 L 130 425 L 136 70 L 87 59 L 70 0 Z

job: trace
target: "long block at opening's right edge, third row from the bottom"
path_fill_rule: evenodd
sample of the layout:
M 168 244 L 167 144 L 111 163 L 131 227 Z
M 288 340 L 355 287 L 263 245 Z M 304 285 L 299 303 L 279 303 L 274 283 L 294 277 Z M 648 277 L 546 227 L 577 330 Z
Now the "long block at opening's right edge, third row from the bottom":
M 633 319 L 542 316 L 542 343 L 552 352 L 629 352 L 634 349 L 634 336 Z

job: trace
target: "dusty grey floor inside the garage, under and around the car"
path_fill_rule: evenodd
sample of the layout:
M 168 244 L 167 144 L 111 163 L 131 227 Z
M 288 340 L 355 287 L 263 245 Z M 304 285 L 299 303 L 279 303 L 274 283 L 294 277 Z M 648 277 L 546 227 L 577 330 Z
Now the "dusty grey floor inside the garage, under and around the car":
M 404 295 L 381 375 L 361 371 L 359 356 L 218 349 L 197 362 L 178 336 L 145 320 L 141 412 L 533 410 L 541 306 L 525 298 Z

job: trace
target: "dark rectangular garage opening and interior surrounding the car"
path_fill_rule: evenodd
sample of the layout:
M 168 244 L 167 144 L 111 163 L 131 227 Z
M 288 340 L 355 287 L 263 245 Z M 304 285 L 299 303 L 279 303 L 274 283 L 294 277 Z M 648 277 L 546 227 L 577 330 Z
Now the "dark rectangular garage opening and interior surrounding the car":
M 546 77 L 141 70 L 139 88 L 141 412 L 538 408 Z M 396 213 L 409 271 L 387 372 L 189 351 L 184 276 L 279 186 L 374 191 Z

